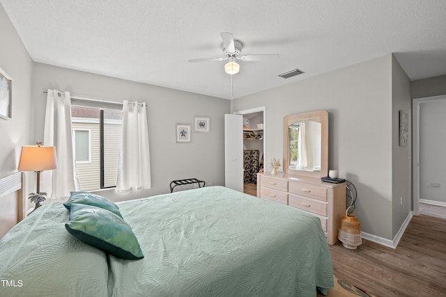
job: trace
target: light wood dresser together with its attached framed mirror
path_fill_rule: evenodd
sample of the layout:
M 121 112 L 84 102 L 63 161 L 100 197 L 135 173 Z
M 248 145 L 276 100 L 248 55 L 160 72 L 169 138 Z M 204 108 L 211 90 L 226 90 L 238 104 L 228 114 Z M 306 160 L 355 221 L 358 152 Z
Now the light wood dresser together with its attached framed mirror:
M 321 181 L 328 174 L 327 111 L 286 115 L 283 168 L 284 172 L 257 173 L 257 197 L 316 216 L 328 244 L 336 243 L 346 212 L 346 186 Z

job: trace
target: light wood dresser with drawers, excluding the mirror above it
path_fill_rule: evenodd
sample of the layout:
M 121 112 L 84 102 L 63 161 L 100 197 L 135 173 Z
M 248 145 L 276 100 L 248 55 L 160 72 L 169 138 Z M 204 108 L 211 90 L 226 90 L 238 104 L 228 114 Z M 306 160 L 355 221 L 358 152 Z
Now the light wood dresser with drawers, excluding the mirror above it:
M 346 212 L 346 184 L 277 172 L 257 173 L 257 197 L 309 211 L 321 219 L 328 244 L 337 242 L 339 222 Z

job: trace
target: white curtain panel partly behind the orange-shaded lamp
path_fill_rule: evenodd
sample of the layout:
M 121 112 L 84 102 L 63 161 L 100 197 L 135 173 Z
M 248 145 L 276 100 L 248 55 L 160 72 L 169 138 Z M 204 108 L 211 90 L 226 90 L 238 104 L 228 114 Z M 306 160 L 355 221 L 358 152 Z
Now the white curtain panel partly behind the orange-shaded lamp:
M 56 147 L 57 168 L 42 172 L 42 191 L 47 192 L 50 199 L 69 197 L 70 191 L 79 190 L 73 154 L 69 92 L 48 90 L 43 145 Z

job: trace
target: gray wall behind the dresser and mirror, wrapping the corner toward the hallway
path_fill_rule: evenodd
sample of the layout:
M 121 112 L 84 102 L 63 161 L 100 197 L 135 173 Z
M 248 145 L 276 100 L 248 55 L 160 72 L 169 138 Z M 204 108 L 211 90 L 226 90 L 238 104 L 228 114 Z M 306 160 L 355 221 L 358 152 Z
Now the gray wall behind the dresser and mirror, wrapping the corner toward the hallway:
M 392 71 L 392 68 L 397 70 Z M 305 74 L 304 74 L 305 75 Z M 398 90 L 392 92 L 392 82 Z M 409 106 L 410 84 L 392 54 L 317 77 L 296 81 L 233 101 L 233 111 L 266 106 L 266 163 L 282 159 L 284 115 L 327 110 L 329 113 L 329 167 L 355 184 L 358 192 L 356 215 L 362 231 L 392 240 L 401 227 L 401 218 L 410 209 L 392 211 L 395 199 L 404 195 L 410 205 L 410 170 L 403 181 L 393 184 L 394 168 L 410 168 L 406 155 L 402 161 L 394 152 L 399 105 Z M 393 103 L 393 96 L 396 104 Z M 407 102 L 406 102 L 407 100 Z M 400 102 L 401 101 L 401 102 Z M 410 149 L 410 147 L 408 147 Z M 397 198 L 394 197 L 395 193 Z M 407 196 L 406 196 L 407 195 Z M 394 226 L 394 227 L 393 227 Z

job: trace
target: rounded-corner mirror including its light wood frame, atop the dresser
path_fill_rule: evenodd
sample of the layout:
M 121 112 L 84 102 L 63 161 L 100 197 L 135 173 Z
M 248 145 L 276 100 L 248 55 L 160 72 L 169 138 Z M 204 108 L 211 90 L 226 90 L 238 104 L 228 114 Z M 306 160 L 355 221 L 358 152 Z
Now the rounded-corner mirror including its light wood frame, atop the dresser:
M 283 170 L 290 175 L 328 175 L 327 111 L 285 116 Z

